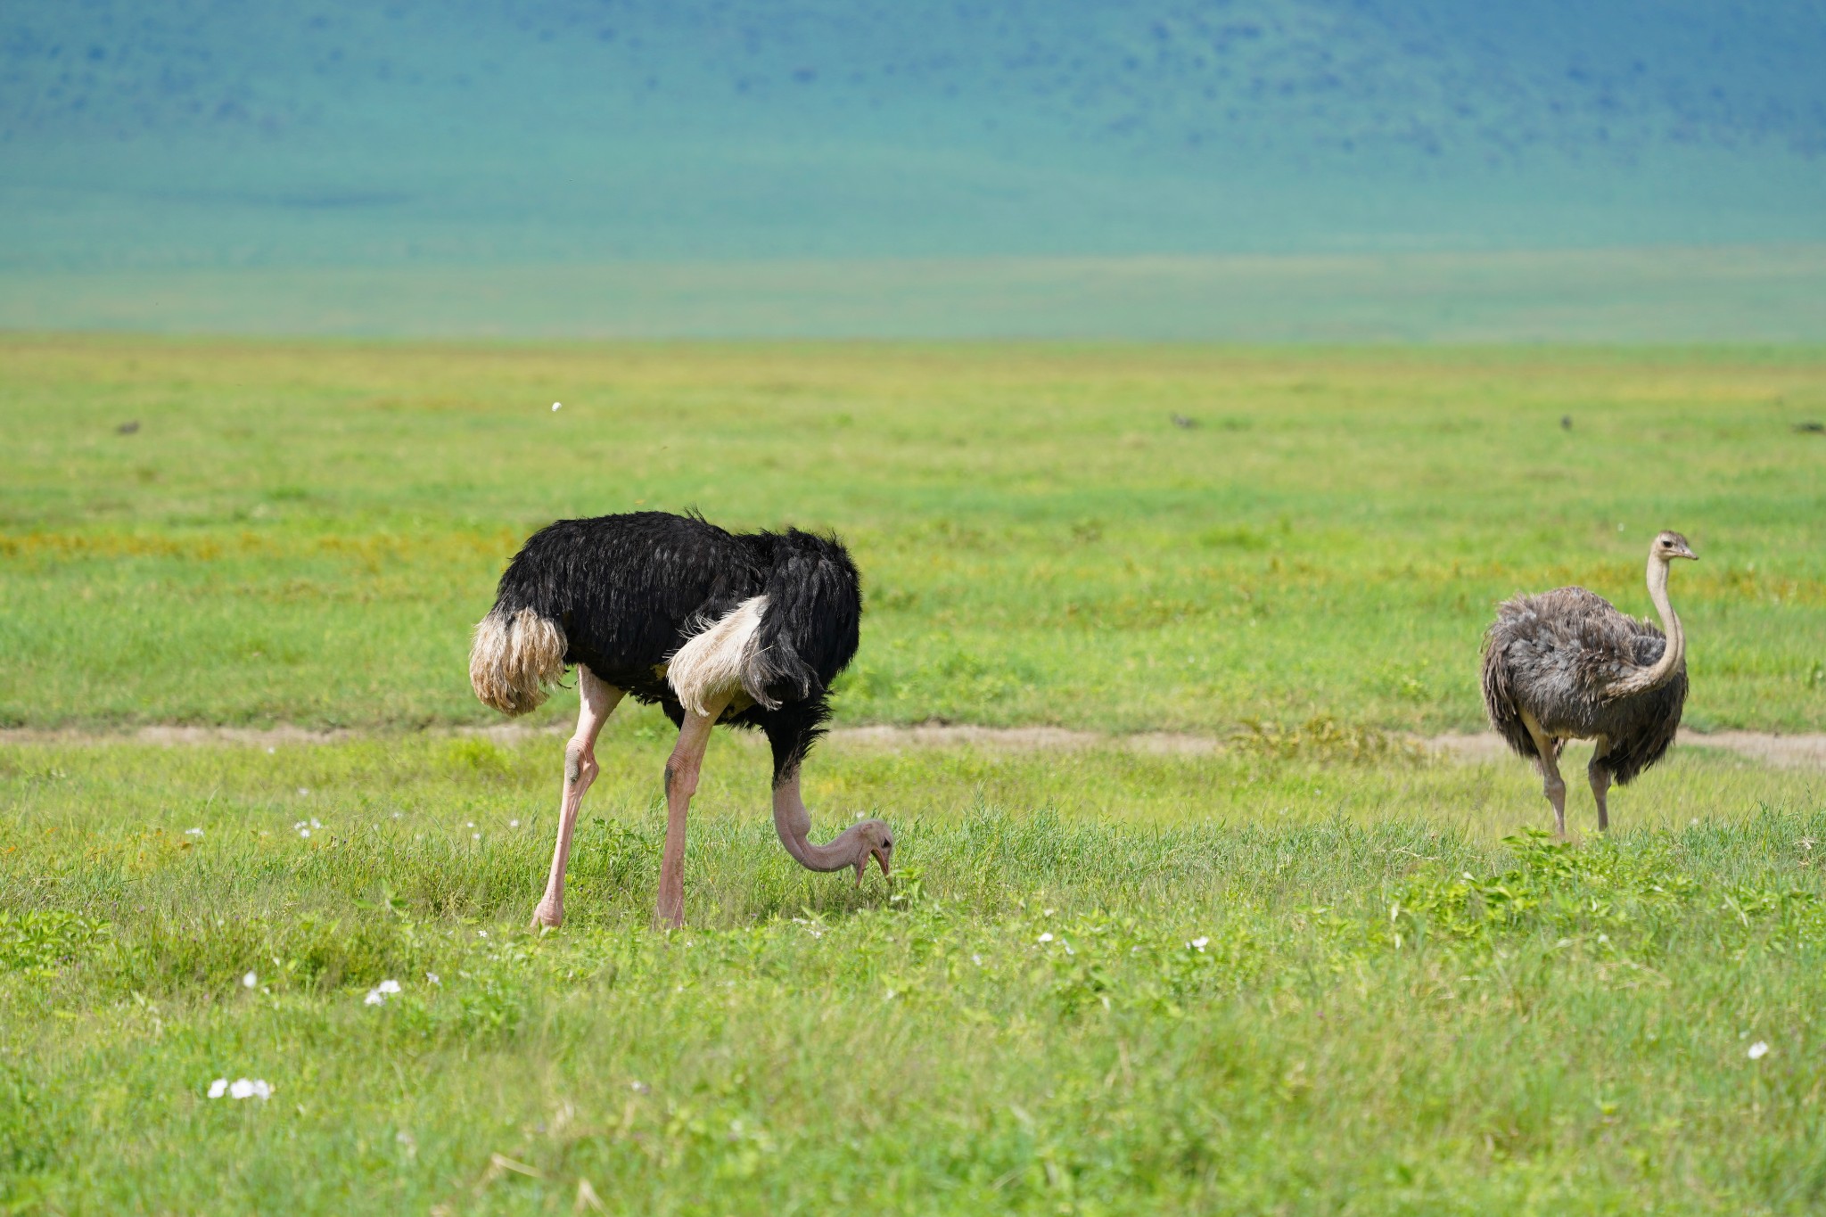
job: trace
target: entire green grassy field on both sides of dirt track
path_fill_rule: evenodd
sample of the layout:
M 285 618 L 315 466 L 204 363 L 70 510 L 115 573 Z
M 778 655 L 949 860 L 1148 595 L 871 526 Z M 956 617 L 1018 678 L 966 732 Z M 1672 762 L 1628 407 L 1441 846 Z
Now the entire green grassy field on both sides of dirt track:
M 1826 728 L 1811 420 L 1795 350 L 0 338 L 0 724 L 73 728 L 0 743 L 0 1212 L 1819 1212 L 1826 775 L 1682 746 L 1554 845 L 1399 735 L 1669 525 L 1687 723 Z M 661 936 L 630 710 L 535 936 L 561 737 L 415 728 L 528 531 L 685 505 L 851 540 L 845 723 L 1233 739 L 833 741 L 855 889 L 719 735 Z

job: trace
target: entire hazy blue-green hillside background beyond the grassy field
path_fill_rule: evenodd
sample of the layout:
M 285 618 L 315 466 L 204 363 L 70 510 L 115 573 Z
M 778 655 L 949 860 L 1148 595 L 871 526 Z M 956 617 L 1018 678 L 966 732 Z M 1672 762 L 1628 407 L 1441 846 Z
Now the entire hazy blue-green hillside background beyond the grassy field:
M 0 325 L 1826 338 L 1826 4 L 9 5 Z

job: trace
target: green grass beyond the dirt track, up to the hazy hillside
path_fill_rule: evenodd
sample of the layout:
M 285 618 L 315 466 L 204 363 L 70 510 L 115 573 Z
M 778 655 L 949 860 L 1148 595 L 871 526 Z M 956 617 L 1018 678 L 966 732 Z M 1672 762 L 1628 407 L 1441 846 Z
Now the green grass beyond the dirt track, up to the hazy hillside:
M 482 723 L 526 533 L 698 505 L 853 542 L 845 721 L 1474 728 L 1497 598 L 1647 613 L 1678 527 L 1689 723 L 1819 730 L 1821 418 L 1791 350 L 7 338 L 0 723 Z

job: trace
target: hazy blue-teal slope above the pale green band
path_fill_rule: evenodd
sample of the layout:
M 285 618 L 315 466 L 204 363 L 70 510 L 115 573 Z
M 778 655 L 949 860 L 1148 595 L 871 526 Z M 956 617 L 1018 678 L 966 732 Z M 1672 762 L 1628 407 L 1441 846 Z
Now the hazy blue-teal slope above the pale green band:
M 1826 237 L 1826 4 L 0 16 L 15 266 Z

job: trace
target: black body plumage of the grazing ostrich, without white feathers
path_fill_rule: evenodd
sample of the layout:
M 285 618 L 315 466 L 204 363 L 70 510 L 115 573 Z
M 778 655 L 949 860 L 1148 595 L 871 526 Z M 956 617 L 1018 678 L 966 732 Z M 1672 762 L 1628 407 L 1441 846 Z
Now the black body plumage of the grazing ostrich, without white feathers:
M 557 624 L 566 664 L 584 664 L 683 723 L 665 664 L 694 633 L 761 595 L 758 646 L 778 706 L 732 708 L 721 723 L 767 732 L 778 781 L 824 733 L 831 682 L 860 639 L 862 582 L 834 536 L 729 533 L 661 511 L 557 520 L 508 564 L 495 611 L 530 609 Z

